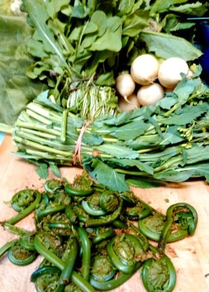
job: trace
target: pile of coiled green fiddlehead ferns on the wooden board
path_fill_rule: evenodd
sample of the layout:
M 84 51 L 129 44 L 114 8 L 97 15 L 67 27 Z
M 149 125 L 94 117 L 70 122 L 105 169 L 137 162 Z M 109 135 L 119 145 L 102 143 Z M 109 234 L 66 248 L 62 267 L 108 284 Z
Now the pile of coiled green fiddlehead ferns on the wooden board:
M 0 248 L 0 257 L 7 253 L 12 263 L 26 266 L 41 255 L 31 275 L 39 292 L 110 291 L 141 267 L 147 291 L 173 291 L 176 270 L 165 246 L 193 236 L 198 221 L 188 203 L 173 204 L 163 215 L 133 192 L 95 184 L 86 171 L 73 183 L 45 180 L 43 192 L 20 190 L 10 204 L 17 214 L 1 225 L 18 237 Z M 33 231 L 15 226 L 33 210 Z

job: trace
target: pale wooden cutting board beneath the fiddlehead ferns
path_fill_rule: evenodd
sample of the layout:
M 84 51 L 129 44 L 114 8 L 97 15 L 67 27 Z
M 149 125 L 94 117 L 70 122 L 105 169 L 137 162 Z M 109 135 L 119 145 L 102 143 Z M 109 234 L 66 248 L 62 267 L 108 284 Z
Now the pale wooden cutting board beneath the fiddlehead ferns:
M 6 205 L 13 194 L 26 187 L 43 189 L 41 180 L 33 164 L 11 155 L 15 151 L 10 135 L 6 135 L 0 146 L 0 221 L 6 220 L 15 211 Z M 61 174 L 72 181 L 82 169 L 63 167 Z M 49 178 L 53 178 L 49 174 Z M 190 203 L 199 215 L 196 233 L 176 243 L 167 245 L 167 255 L 171 257 L 177 272 L 175 292 L 208 292 L 209 291 L 209 185 L 204 180 L 192 180 L 186 183 L 169 183 L 167 186 L 141 190 L 132 188 L 134 193 L 151 206 L 165 213 L 172 203 Z M 32 215 L 22 220 L 17 226 L 33 229 Z M 0 227 L 0 246 L 15 236 Z M 33 292 L 30 282 L 31 273 L 38 268 L 40 257 L 29 266 L 19 267 L 8 261 L 4 255 L 0 261 L 0 291 Z M 114 292 L 144 292 L 140 271 Z

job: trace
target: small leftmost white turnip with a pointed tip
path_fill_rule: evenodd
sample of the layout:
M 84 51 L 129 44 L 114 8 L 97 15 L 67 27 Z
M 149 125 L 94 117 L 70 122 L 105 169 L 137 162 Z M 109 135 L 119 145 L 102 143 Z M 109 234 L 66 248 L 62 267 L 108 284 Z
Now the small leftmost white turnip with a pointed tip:
M 123 96 L 125 100 L 127 100 L 127 96 L 134 92 L 135 86 L 136 84 L 134 80 L 128 73 L 118 75 L 116 78 L 116 91 L 118 91 L 118 93 Z

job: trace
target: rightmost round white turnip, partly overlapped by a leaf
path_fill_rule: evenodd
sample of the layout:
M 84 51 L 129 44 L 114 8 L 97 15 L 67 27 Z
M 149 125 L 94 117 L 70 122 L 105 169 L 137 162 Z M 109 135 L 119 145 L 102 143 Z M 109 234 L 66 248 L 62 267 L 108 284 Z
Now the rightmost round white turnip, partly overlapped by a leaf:
M 174 89 L 182 79 L 180 73 L 187 75 L 188 72 L 189 66 L 185 60 L 179 57 L 171 57 L 160 65 L 157 78 L 162 86 Z

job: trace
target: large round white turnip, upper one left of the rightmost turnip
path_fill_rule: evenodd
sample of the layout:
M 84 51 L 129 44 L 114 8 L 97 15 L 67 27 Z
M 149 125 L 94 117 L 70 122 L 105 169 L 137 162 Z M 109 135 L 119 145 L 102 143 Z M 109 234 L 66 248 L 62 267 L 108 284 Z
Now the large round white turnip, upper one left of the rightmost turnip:
M 137 84 L 148 85 L 155 82 L 155 79 L 157 79 L 159 67 L 160 63 L 155 56 L 143 54 L 132 62 L 130 74 Z

